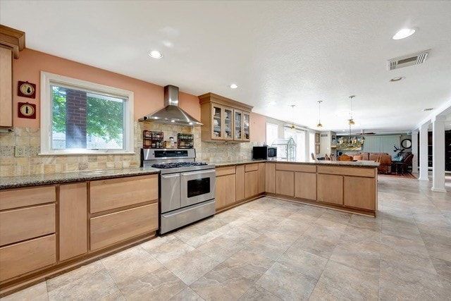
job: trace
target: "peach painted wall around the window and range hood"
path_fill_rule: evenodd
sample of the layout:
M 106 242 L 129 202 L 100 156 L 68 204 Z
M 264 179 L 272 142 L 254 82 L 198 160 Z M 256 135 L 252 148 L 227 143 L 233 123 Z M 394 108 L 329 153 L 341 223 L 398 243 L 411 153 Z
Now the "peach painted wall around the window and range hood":
M 20 51 L 20 58 L 14 60 L 13 68 L 13 122 L 16 127 L 39 128 L 41 71 L 134 92 L 135 120 L 141 118 L 144 114 L 152 113 L 163 108 L 163 87 L 159 85 L 87 66 L 75 61 L 61 59 L 57 56 L 51 56 L 32 49 Z M 17 96 L 19 80 L 36 84 L 36 99 Z M 173 85 L 177 85 L 177 83 L 174 82 Z M 18 118 L 18 102 L 37 104 L 37 118 Z M 180 92 L 179 104 L 180 108 L 200 120 L 200 104 L 196 96 Z

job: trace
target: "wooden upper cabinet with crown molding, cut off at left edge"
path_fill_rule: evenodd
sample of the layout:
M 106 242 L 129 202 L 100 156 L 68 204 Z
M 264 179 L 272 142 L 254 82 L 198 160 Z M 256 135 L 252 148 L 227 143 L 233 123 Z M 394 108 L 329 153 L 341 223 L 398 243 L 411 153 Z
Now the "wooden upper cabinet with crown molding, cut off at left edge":
M 0 25 L 0 128 L 13 127 L 13 58 L 25 47 L 25 32 Z

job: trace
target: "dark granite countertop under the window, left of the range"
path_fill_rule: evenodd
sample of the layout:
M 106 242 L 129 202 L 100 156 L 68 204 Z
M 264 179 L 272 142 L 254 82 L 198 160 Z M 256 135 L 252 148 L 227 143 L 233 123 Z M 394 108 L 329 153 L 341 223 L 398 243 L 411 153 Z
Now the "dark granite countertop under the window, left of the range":
M 76 171 L 67 173 L 45 173 L 31 176 L 0 177 L 0 189 L 23 188 L 39 185 L 101 180 L 106 178 L 122 178 L 159 173 L 156 168 L 121 168 L 103 171 Z

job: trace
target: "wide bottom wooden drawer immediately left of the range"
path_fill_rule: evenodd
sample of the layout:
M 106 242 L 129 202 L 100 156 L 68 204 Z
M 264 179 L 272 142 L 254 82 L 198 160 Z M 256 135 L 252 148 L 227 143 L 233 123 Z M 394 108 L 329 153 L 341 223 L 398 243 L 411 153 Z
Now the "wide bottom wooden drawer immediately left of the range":
M 90 219 L 91 247 L 97 250 L 158 229 L 158 203 Z

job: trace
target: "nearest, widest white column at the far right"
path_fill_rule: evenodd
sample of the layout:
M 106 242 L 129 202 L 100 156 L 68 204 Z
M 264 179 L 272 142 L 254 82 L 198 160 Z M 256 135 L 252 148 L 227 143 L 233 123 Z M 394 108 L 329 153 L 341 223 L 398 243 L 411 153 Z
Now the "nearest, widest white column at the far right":
M 446 116 L 435 116 L 432 120 L 432 188 L 445 190 L 445 120 Z

